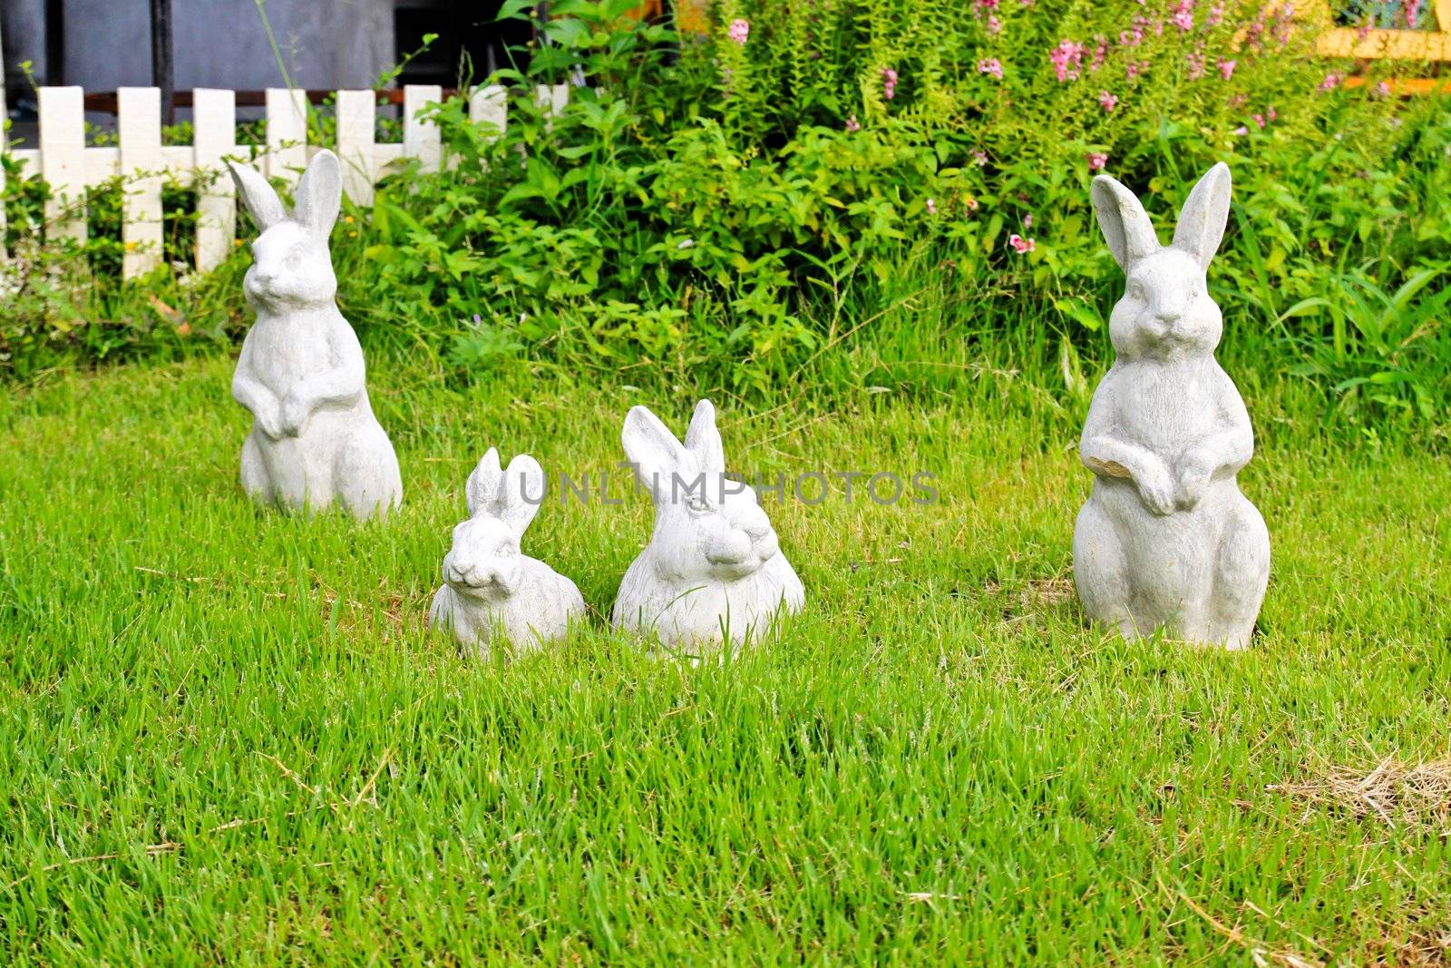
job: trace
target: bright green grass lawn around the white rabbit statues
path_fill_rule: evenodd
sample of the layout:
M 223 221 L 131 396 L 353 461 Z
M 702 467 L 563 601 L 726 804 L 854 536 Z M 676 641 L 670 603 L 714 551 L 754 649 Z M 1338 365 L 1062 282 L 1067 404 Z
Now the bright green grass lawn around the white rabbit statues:
M 1239 374 L 1236 374 L 1239 376 Z M 807 586 L 730 663 L 604 630 L 649 505 L 525 537 L 588 631 L 470 662 L 425 628 L 490 444 L 615 470 L 669 401 L 540 370 L 371 376 L 385 524 L 258 512 L 231 363 L 0 396 L 0 961 L 1402 964 L 1451 956 L 1451 472 L 1241 377 L 1274 541 L 1248 653 L 1085 627 L 1081 408 L 717 396 L 734 469 L 937 475 L 768 505 Z

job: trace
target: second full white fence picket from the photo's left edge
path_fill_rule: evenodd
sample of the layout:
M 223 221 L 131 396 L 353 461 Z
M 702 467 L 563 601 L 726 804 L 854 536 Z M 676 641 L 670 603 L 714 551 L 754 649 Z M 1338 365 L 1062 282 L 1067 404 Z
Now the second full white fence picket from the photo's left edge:
M 119 89 L 116 119 L 120 170 L 139 176 L 128 179 L 120 200 L 120 274 L 135 279 L 161 264 L 161 91 Z

